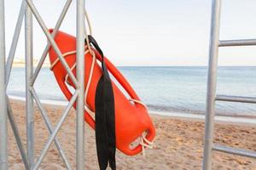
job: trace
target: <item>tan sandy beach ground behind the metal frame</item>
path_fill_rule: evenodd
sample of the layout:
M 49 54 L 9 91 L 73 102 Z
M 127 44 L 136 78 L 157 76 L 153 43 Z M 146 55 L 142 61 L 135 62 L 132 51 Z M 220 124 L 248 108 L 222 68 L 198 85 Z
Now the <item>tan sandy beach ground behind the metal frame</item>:
M 24 102 L 12 100 L 11 105 L 18 124 L 22 142 L 26 147 L 26 116 Z M 50 121 L 58 122 L 63 106 L 44 105 Z M 156 128 L 153 150 L 146 150 L 146 156 L 125 156 L 117 151 L 117 169 L 201 169 L 204 122 L 172 116 L 152 115 Z M 40 151 L 48 138 L 48 130 L 38 108 L 35 108 L 35 155 Z M 75 112 L 71 111 L 58 133 L 58 139 L 73 169 L 75 168 Z M 256 127 L 245 124 L 216 123 L 215 142 L 236 148 L 256 151 Z M 98 169 L 94 131 L 85 126 L 85 167 Z M 25 169 L 22 165 L 15 137 L 9 126 L 9 167 Z M 41 169 L 66 169 L 58 155 L 55 144 L 49 149 Z M 220 152 L 213 154 L 213 169 L 247 169 L 256 170 L 256 160 L 241 156 L 232 156 Z

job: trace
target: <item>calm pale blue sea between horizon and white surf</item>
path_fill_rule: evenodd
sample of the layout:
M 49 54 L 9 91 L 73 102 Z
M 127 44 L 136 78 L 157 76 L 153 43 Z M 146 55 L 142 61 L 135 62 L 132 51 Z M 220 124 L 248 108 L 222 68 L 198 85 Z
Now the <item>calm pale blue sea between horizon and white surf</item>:
M 207 67 L 119 67 L 137 94 L 152 111 L 200 113 L 206 107 Z M 38 76 L 40 99 L 66 101 L 48 68 Z M 256 97 L 256 67 L 219 67 L 217 94 Z M 12 71 L 8 94 L 25 97 L 25 70 Z M 256 105 L 218 102 L 220 115 L 256 116 Z

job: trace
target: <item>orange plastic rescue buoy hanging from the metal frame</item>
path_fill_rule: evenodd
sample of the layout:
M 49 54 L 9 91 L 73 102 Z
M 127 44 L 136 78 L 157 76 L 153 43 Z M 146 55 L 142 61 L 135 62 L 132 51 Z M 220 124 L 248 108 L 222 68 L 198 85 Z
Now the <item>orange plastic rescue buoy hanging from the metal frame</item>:
M 52 32 L 52 30 L 49 30 Z M 76 50 L 76 38 L 68 35 L 67 33 L 58 31 L 55 36 L 55 42 L 61 50 L 61 54 L 65 54 L 70 51 Z M 102 56 L 94 49 L 96 54 L 96 59 L 102 60 Z M 90 67 L 92 64 L 92 55 L 90 53 L 85 54 L 85 78 L 84 84 L 86 86 L 88 82 L 88 77 L 90 73 Z M 58 58 L 55 54 L 53 48 L 49 48 L 49 60 L 53 64 Z M 70 54 L 65 57 L 67 64 L 71 68 L 76 63 L 76 54 Z M 125 77 L 119 72 L 119 70 L 105 58 L 105 62 L 108 71 L 113 75 L 113 77 L 119 82 L 122 88 L 125 89 L 126 93 L 131 99 L 135 101 L 140 101 L 135 91 L 131 88 L 129 82 L 126 81 Z M 68 77 L 67 82 L 65 82 L 65 77 L 67 76 L 67 71 L 61 64 L 57 62 L 52 68 L 55 74 L 56 81 L 66 98 L 70 100 L 72 98 L 72 93 L 67 88 L 67 84 L 70 84 L 73 88 L 75 87 L 72 80 Z M 73 69 L 73 74 L 76 76 L 76 69 Z M 90 82 L 88 97 L 86 103 L 90 107 L 91 111 L 95 111 L 95 98 L 96 98 L 96 86 L 102 76 L 102 68 L 97 62 L 94 65 L 93 76 Z M 140 138 L 143 133 L 147 133 L 145 139 L 146 141 L 152 141 L 154 139 L 155 130 L 154 125 L 148 116 L 147 108 L 139 102 L 131 103 L 125 94 L 117 87 L 117 85 L 112 81 L 113 95 L 114 95 L 114 111 L 115 111 L 115 133 L 116 133 L 116 147 L 124 152 L 126 155 L 134 156 L 143 150 L 143 146 L 138 144 L 137 147 L 131 149 L 130 144 L 136 139 Z M 76 104 L 73 105 L 76 108 Z M 95 128 L 95 121 L 93 116 L 86 111 L 84 111 L 84 120 L 90 127 Z M 147 144 L 147 142 L 146 142 Z

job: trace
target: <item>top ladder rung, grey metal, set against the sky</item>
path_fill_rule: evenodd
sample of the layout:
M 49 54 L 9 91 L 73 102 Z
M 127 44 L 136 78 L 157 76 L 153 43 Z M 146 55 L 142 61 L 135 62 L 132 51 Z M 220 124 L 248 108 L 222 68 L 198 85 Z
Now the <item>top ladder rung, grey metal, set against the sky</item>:
M 250 45 L 256 45 L 256 39 L 221 40 L 218 42 L 218 47 L 250 46 Z

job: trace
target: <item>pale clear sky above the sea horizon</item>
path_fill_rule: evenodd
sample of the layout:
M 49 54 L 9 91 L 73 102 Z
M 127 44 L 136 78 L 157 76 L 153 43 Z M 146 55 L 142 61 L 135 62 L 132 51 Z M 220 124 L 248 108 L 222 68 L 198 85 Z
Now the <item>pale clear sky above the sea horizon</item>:
M 17 3 L 19 2 L 19 3 Z M 75 35 L 75 0 L 61 26 Z M 211 0 L 86 0 L 93 36 L 115 65 L 207 65 Z M 20 1 L 6 3 L 7 54 Z M 64 0 L 34 0 L 49 28 Z M 256 38 L 256 1 L 224 0 L 220 39 Z M 34 56 L 46 38 L 34 20 Z M 16 57 L 24 58 L 24 30 Z M 219 65 L 256 65 L 256 47 L 221 48 Z

